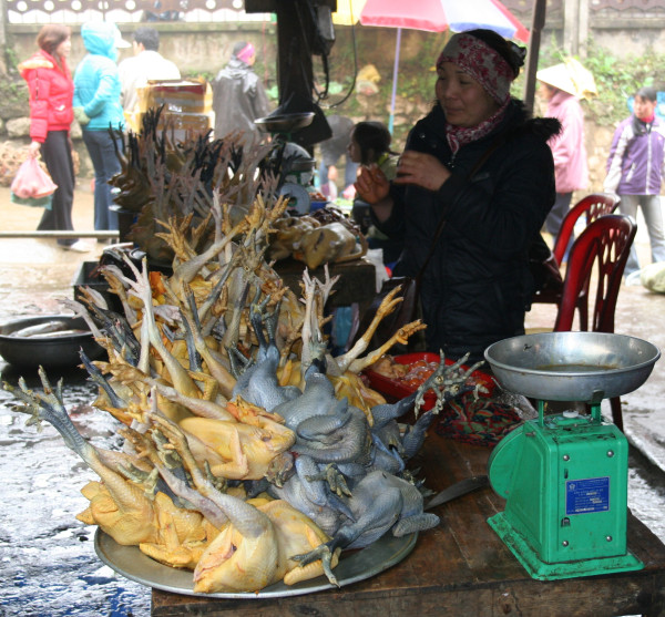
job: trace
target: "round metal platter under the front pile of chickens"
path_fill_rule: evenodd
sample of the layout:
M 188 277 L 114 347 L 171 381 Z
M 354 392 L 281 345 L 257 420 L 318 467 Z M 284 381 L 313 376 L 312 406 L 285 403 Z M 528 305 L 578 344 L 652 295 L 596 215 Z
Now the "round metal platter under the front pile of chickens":
M 401 562 L 416 546 L 418 534 L 403 537 L 383 535 L 374 544 L 361 551 L 341 554 L 341 559 L 332 570 L 340 587 L 365 580 L 388 569 Z M 300 596 L 325 589 L 336 589 L 325 576 L 304 580 L 296 585 L 275 583 L 260 592 L 225 593 L 225 594 L 197 594 L 194 592 L 193 573 L 186 569 L 172 568 L 151 559 L 141 553 L 137 546 L 122 546 L 110 535 L 96 529 L 94 535 L 94 549 L 99 558 L 130 580 L 147 587 L 154 587 L 173 594 L 186 596 L 201 596 L 207 598 L 228 599 L 266 599 L 285 596 Z

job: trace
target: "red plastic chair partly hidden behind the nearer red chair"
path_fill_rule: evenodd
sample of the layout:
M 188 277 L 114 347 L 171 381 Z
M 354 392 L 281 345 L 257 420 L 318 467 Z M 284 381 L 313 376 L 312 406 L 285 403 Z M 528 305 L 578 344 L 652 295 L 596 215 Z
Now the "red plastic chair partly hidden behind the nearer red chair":
M 565 215 L 559 236 L 552 253 L 557 264 L 561 264 L 565 255 L 565 249 L 569 245 L 573 229 L 577 219 L 582 215 L 586 215 L 586 226 L 607 214 L 612 214 L 618 207 L 618 197 L 610 193 L 592 193 L 580 199 Z M 531 299 L 532 302 L 560 305 L 561 304 L 561 290 L 556 289 L 542 289 L 536 291 Z M 580 329 L 586 331 L 589 329 L 589 289 L 582 289 L 580 298 L 577 299 L 576 308 L 580 311 Z

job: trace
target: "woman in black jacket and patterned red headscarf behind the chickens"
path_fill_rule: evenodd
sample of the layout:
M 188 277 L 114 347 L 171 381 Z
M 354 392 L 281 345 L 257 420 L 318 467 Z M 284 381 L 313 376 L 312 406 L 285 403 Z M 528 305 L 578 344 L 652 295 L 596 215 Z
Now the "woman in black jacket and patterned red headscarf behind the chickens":
M 451 37 L 437 103 L 409 133 L 398 177 L 371 168 L 356 183 L 377 227 L 405 240 L 395 275 L 421 275 L 428 349 L 452 359 L 481 360 L 524 333 L 529 247 L 555 198 L 546 142 L 560 128 L 510 96 L 524 53 L 489 30 Z

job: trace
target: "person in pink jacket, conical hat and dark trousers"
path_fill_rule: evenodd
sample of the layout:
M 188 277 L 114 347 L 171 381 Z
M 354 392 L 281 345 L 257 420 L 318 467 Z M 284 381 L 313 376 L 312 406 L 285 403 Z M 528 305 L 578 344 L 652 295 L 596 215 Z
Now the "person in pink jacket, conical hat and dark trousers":
M 545 229 L 556 241 L 561 223 L 571 206 L 573 192 L 586 188 L 589 185 L 589 164 L 584 146 L 584 112 L 576 96 L 564 90 L 569 88 L 567 82 L 565 79 L 560 81 L 557 72 L 545 69 L 539 71 L 538 79 L 541 82 L 540 95 L 548 101 L 545 115 L 555 117 L 562 126 L 561 133 L 549 142 L 554 157 L 556 202 L 545 219 Z M 551 80 L 552 83 L 546 80 Z M 573 238 L 571 238 L 571 244 Z M 569 248 L 570 246 L 569 244 Z

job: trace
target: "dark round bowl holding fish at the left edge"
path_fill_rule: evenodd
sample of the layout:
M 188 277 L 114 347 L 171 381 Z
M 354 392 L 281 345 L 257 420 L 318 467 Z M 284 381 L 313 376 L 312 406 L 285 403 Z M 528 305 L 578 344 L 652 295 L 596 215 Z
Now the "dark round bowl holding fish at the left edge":
M 68 329 L 86 330 L 66 337 L 10 337 L 12 332 L 48 321 L 64 321 Z M 22 317 L 0 325 L 0 356 L 17 367 L 75 367 L 81 363 L 79 350 L 83 349 L 90 359 L 99 358 L 103 349 L 94 340 L 85 321 L 70 315 L 40 315 Z

